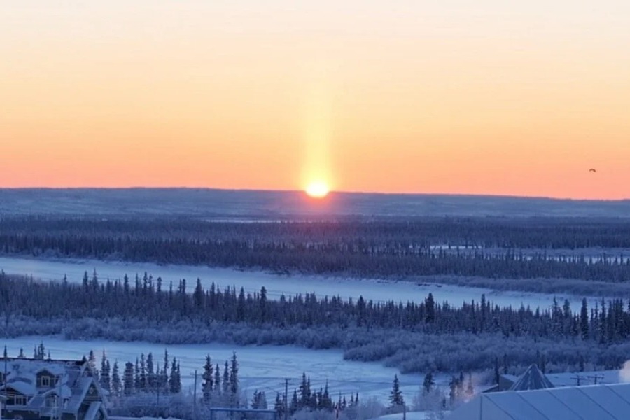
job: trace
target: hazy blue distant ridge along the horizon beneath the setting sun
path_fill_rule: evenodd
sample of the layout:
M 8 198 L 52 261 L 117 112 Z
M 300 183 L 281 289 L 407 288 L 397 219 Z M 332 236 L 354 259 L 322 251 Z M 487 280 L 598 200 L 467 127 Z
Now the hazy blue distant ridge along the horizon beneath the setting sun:
M 188 216 L 285 219 L 313 216 L 630 218 L 630 200 L 485 195 L 331 193 L 203 188 L 3 188 L 0 216 Z

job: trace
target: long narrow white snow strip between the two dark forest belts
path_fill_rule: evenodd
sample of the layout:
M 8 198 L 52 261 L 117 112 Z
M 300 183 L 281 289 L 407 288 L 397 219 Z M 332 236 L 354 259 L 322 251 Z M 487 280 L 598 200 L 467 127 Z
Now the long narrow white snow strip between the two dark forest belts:
M 38 260 L 27 258 L 0 258 L 0 270 L 7 274 L 27 274 L 37 279 L 61 280 L 64 275 L 68 281 L 80 282 L 83 273 L 88 272 L 90 277 L 96 269 L 99 279 L 122 279 L 125 274 L 133 279 L 138 274 L 144 276 L 144 272 L 157 279 L 162 277 L 163 288 L 169 287 L 169 281 L 173 281 L 176 288 L 180 279 L 186 279 L 190 292 L 195 288 L 197 278 L 201 279 L 202 286 L 208 288 L 212 282 L 220 288 L 228 286 L 243 287 L 248 293 L 259 291 L 262 286 L 267 289 L 270 299 L 279 298 L 281 294 L 295 295 L 297 293 L 315 293 L 323 296 L 349 297 L 356 300 L 363 295 L 366 300 L 383 302 L 393 300 L 395 302 L 420 302 L 428 293 L 433 293 L 437 302 L 448 301 L 450 304 L 459 305 L 462 302 L 479 301 L 482 293 L 486 299 L 500 306 L 520 307 L 521 304 L 532 308 L 551 307 L 554 296 L 560 304 L 565 298 L 571 303 L 574 311 L 580 309 L 582 297 L 545 295 L 542 293 L 525 293 L 497 291 L 486 288 L 470 288 L 462 286 L 440 285 L 436 283 L 414 283 L 411 281 L 379 281 L 368 279 L 349 279 L 325 276 L 286 276 L 269 274 L 265 272 L 238 271 L 234 269 L 221 269 L 191 265 L 157 265 L 141 262 L 104 262 L 99 260 Z M 550 280 L 552 281 L 552 280 Z M 601 298 L 590 298 L 589 307 L 594 307 L 596 301 Z

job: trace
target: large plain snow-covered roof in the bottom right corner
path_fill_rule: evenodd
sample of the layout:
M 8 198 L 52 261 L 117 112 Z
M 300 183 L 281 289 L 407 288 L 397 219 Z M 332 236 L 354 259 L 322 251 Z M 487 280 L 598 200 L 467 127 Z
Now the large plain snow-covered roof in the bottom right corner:
M 479 394 L 448 420 L 621 420 L 630 412 L 630 384 L 570 386 Z

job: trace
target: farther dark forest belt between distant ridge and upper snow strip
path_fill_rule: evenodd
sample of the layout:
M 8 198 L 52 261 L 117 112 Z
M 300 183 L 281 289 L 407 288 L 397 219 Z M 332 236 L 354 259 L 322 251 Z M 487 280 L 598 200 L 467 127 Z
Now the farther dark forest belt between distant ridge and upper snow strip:
M 0 221 L 3 255 L 364 278 L 572 279 L 622 285 L 630 280 L 629 250 L 630 223 L 617 219 L 215 223 L 190 218 L 23 217 Z

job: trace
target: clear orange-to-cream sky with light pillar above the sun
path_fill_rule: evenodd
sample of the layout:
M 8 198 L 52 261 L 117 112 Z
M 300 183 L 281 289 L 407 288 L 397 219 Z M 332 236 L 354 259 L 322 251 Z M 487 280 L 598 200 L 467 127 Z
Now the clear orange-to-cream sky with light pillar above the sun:
M 0 187 L 630 197 L 626 0 L 20 0 L 0 21 Z

